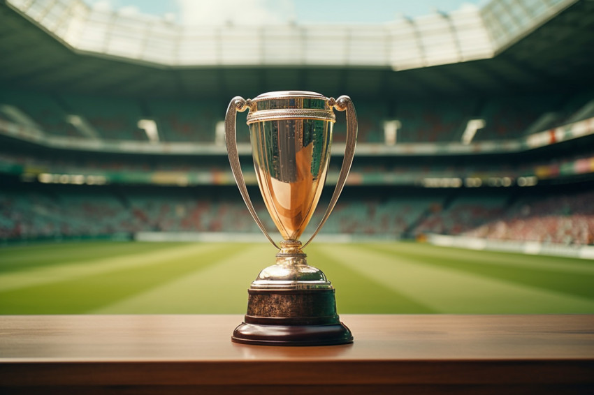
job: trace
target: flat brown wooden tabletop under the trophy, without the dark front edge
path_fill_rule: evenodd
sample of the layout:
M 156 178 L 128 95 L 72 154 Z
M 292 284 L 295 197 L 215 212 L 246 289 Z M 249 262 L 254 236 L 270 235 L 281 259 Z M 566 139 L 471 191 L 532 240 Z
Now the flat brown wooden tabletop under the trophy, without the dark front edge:
M 0 362 L 593 359 L 594 315 L 342 315 L 355 341 L 231 343 L 240 315 L 0 316 Z

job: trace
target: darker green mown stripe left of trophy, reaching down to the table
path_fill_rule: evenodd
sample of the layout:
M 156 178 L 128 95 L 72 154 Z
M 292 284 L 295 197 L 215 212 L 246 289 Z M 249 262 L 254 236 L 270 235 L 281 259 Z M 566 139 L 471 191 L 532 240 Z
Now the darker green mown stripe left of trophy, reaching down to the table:
M 88 276 L 0 292 L 0 313 L 85 313 L 173 281 L 238 251 L 238 246 L 229 244 L 206 246 L 208 251 L 202 253 L 165 255 L 140 267 L 115 266 Z

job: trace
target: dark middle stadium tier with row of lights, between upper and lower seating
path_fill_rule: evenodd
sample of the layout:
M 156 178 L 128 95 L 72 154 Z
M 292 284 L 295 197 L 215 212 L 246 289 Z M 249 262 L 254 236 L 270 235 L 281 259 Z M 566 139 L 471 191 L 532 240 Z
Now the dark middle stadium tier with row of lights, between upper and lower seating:
M 0 172 L 22 181 L 43 184 L 158 184 L 163 186 L 234 185 L 225 156 L 154 156 L 83 154 L 52 149 L 32 153 L 19 144 L 0 151 Z M 347 185 L 398 185 L 458 188 L 530 186 L 537 182 L 588 177 L 594 172 L 594 152 L 588 144 L 551 158 L 542 154 L 465 158 L 361 156 Z M 242 158 L 247 184 L 256 185 L 249 157 Z M 341 156 L 333 157 L 327 184 L 335 183 Z

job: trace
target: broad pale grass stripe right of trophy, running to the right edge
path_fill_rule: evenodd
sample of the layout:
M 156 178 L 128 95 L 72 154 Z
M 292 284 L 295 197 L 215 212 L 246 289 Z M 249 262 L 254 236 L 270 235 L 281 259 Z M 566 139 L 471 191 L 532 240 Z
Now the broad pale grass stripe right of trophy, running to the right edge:
M 342 264 L 441 313 L 594 313 L 591 299 L 468 274 L 355 246 L 319 245 Z M 338 253 L 337 253 L 338 252 Z

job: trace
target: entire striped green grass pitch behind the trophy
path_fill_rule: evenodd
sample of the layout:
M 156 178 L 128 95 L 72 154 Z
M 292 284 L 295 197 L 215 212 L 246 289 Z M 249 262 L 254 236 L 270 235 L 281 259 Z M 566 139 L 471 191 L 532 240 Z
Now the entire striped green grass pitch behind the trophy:
M 594 313 L 594 261 L 428 244 L 305 252 L 338 313 Z M 269 244 L 80 242 L 0 248 L 0 314 L 245 313 Z

